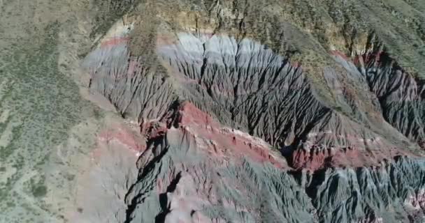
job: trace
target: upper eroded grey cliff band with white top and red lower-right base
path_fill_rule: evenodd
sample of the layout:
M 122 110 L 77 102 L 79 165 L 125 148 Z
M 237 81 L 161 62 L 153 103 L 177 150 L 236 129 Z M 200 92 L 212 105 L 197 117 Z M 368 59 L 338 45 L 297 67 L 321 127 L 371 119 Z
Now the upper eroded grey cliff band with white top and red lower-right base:
M 158 46 L 159 67 L 168 70 L 168 77 L 150 71 L 140 57 L 132 58 L 125 41 L 104 43 L 87 58 L 90 87 L 110 98 L 124 116 L 158 118 L 175 100 L 188 100 L 220 123 L 282 149 L 295 168 L 361 167 L 410 154 L 403 148 L 409 146 L 407 139 L 382 118 L 379 102 L 344 86 L 344 77 L 366 83 L 356 70 L 324 70 L 338 105 L 351 110 L 347 114 L 316 96 L 301 67 L 252 40 L 180 33 L 178 43 Z M 371 105 L 362 96 L 371 98 Z M 366 106 L 372 106 L 371 114 L 365 114 Z

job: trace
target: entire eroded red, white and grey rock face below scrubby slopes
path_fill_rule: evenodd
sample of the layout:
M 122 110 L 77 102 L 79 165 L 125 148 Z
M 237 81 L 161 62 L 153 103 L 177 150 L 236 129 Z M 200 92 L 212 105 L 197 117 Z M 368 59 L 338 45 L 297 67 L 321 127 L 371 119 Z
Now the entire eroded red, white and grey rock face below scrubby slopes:
M 225 5 L 210 8 L 219 24 L 238 20 Z M 83 63 L 146 140 L 119 222 L 425 220 L 424 82 L 375 34 L 347 56 L 299 55 L 197 16 L 157 28 L 146 52 L 140 21 L 118 22 Z

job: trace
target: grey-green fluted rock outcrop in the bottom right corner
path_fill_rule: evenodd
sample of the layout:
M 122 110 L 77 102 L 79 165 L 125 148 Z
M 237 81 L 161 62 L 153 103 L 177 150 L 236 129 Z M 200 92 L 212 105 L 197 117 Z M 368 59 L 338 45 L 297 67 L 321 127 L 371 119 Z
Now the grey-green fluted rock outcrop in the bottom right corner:
M 303 182 L 322 222 L 420 222 L 423 174 L 422 160 L 398 157 L 379 167 L 319 171 Z

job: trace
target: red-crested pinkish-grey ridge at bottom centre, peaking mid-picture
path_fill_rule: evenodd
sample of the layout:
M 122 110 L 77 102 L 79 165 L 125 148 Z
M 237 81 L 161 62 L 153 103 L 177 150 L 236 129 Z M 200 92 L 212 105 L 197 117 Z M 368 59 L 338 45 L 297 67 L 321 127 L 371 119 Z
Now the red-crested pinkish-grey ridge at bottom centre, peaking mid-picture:
M 175 112 L 173 125 L 149 139 L 139 157 L 126 222 L 312 221 L 308 197 L 279 171 L 286 164 L 278 151 L 220 126 L 194 105 L 185 103 Z M 294 203 L 296 190 L 300 197 Z

